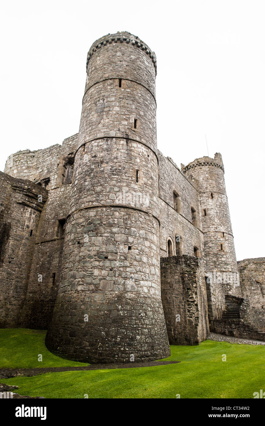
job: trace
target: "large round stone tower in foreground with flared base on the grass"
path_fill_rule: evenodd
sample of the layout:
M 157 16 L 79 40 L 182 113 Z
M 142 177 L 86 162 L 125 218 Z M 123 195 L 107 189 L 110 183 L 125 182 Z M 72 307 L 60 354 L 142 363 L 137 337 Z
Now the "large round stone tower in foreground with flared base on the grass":
M 156 57 L 128 32 L 87 56 L 60 288 L 47 347 L 90 363 L 170 355 L 160 294 Z

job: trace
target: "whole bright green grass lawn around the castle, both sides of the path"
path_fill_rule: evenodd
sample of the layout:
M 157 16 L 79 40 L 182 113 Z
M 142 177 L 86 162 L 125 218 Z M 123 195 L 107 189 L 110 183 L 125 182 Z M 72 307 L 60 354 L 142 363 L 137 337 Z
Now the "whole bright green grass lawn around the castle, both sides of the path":
M 13 336 L 10 355 L 5 350 L 5 362 L 9 360 L 10 367 L 17 364 L 16 357 L 23 360 L 23 366 L 30 367 L 40 364 L 43 367 L 78 365 L 50 354 L 44 347 L 43 331 L 34 334 L 33 330 L 9 329 L 0 330 L 0 333 L 0 336 L 2 333 Z M 0 339 L 2 354 L 3 340 Z M 36 343 L 37 340 L 39 343 Z M 42 353 L 40 347 L 47 357 L 46 364 L 36 365 L 36 353 Z M 14 349 L 16 355 L 12 353 Z M 226 354 L 226 362 L 222 361 L 223 354 Z M 84 394 L 89 398 L 176 398 L 176 394 L 180 394 L 181 398 L 253 398 L 253 392 L 265 390 L 265 346 L 207 340 L 198 346 L 171 346 L 171 357 L 167 359 L 181 363 L 116 370 L 65 371 L 2 381 L 19 386 L 18 393 L 22 395 L 46 398 L 84 398 Z

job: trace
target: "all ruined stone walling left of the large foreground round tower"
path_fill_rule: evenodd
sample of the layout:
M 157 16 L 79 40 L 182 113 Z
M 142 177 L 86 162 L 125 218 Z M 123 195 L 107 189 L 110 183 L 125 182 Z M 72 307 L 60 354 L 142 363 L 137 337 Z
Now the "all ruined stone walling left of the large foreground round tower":
M 19 151 L 6 161 L 5 172 L 9 176 L 1 175 L 1 206 L 5 208 L 0 219 L 0 276 L 5 283 L 1 321 L 5 326 L 47 328 L 50 321 L 63 247 L 63 238 L 56 235 L 58 220 L 66 219 L 71 189 L 71 184 L 62 186 L 63 166 L 69 157 L 74 157 L 76 143 L 77 135 L 73 135 L 62 145 Z M 47 190 L 49 199 L 42 211 Z M 43 202 L 35 199 L 37 194 L 43 195 Z M 31 230 L 32 235 L 28 236 Z M 22 244 L 17 244 L 20 239 Z

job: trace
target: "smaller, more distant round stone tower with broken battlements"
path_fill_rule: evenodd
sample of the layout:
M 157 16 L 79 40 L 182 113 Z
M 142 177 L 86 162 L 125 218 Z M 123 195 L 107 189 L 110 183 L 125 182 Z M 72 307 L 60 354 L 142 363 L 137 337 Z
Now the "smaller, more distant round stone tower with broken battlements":
M 223 295 L 241 296 L 222 156 L 197 158 L 182 171 L 198 181 L 205 260 L 213 285 L 221 284 Z

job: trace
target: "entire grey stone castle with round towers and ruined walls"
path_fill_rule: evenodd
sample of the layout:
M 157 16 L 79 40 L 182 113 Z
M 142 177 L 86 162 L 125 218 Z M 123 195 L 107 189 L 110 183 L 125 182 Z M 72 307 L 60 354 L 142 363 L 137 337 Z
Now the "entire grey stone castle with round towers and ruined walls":
M 222 156 L 180 170 L 157 149 L 155 53 L 109 34 L 86 69 L 79 132 L 0 173 L 0 327 L 91 363 L 264 340 L 265 259 L 236 262 Z

